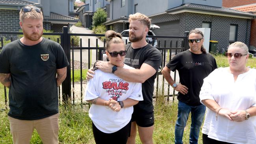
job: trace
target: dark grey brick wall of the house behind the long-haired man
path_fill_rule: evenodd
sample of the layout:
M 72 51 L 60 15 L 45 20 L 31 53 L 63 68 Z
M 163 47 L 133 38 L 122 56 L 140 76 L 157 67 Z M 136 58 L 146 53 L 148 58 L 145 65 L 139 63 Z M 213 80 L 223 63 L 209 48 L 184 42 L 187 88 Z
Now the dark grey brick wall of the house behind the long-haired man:
M 237 41 L 246 43 L 249 46 L 250 41 L 250 22 L 243 18 L 232 18 L 223 16 L 214 16 L 198 13 L 180 13 L 175 15 L 162 14 L 150 17 L 153 24 L 180 20 L 180 36 L 184 36 L 185 31 L 201 28 L 202 22 L 211 22 L 210 40 L 219 41 L 217 52 L 223 52 L 229 45 L 230 24 L 237 24 Z M 248 31 L 246 36 L 248 24 Z M 246 39 L 247 37 L 247 39 Z M 179 42 L 180 46 L 181 42 Z

